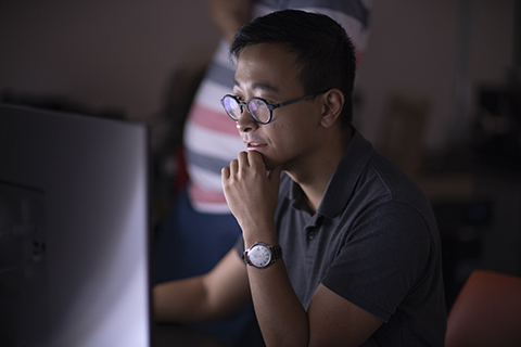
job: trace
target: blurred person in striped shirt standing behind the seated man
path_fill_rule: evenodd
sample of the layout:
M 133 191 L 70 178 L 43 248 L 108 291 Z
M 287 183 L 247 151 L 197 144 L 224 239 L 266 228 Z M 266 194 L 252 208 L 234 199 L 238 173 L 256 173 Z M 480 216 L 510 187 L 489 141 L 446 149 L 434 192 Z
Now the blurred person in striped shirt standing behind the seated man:
M 228 48 L 237 30 L 251 18 L 277 10 L 298 9 L 327 13 L 347 31 L 357 56 L 369 36 L 370 1 L 364 0 L 208 0 L 211 15 L 223 34 L 218 49 L 195 94 L 183 128 L 183 153 L 189 180 L 176 196 L 155 242 L 156 283 L 209 271 L 233 246 L 241 230 L 226 203 L 220 170 L 244 144 L 220 104 L 231 93 L 236 65 Z M 181 166 L 182 167 L 182 166 Z M 253 307 L 224 320 L 190 324 L 232 346 L 252 344 L 258 327 Z

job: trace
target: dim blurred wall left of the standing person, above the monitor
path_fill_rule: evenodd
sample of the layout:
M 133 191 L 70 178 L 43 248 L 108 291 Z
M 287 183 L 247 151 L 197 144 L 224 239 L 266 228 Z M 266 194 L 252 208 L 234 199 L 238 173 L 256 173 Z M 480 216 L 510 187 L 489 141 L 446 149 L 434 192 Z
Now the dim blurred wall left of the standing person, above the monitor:
M 156 112 L 174 69 L 213 52 L 204 0 L 0 2 L 0 92 L 60 94 L 130 118 Z

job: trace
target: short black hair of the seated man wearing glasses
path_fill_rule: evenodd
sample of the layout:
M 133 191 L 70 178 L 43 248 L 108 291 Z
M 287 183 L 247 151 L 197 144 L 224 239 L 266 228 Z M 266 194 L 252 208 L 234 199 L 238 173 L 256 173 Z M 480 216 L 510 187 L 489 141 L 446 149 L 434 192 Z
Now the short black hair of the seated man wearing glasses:
M 233 37 L 230 54 L 239 57 L 251 44 L 278 43 L 296 53 L 298 78 L 306 94 L 338 88 L 345 103 L 341 119 L 353 119 L 353 86 L 356 59 L 347 34 L 332 18 L 317 13 L 284 10 L 257 17 Z

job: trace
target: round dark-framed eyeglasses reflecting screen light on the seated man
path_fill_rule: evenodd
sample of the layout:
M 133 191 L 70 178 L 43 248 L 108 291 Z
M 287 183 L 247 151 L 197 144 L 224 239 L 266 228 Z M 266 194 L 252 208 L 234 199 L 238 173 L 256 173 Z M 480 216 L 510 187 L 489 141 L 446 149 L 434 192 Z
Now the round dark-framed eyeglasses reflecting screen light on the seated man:
M 272 112 L 275 108 L 287 106 L 298 101 L 312 99 L 320 94 L 323 94 L 326 91 L 313 93 L 309 95 L 281 102 L 275 105 L 268 103 L 266 100 L 260 98 L 252 98 L 246 102 L 240 102 L 239 100 L 237 100 L 236 97 L 227 94 L 223 97 L 223 99 L 220 100 L 220 103 L 223 104 L 223 107 L 225 107 L 225 111 L 228 114 L 228 116 L 230 116 L 230 118 L 233 119 L 234 121 L 239 120 L 242 113 L 244 112 L 244 108 L 246 108 L 247 113 L 252 116 L 253 119 L 255 119 L 256 123 L 268 124 L 271 120 Z

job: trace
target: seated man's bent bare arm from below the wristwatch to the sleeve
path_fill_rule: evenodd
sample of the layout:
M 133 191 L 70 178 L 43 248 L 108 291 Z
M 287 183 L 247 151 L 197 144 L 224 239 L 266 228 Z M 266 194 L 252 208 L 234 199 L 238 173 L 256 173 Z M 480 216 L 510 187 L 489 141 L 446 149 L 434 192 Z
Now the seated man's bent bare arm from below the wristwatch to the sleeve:
M 255 312 L 267 346 L 359 346 L 382 321 L 320 284 L 308 311 L 296 297 L 283 261 L 249 267 Z

